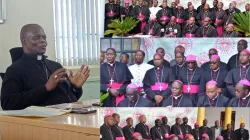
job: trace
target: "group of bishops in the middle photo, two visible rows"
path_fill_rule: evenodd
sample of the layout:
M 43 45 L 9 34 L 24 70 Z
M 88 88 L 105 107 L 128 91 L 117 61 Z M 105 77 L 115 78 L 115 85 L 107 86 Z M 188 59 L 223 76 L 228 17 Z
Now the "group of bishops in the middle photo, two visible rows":
M 221 62 L 218 50 L 208 51 L 210 61 L 198 67 L 196 56 L 184 56 L 185 48 L 175 48 L 175 59 L 164 59 L 158 48 L 153 60 L 144 63 L 145 53 L 135 53 L 115 61 L 116 51 L 101 53 L 101 93 L 108 94 L 104 107 L 250 107 L 250 51 L 244 39 L 238 53 L 228 63 Z M 106 62 L 104 62 L 106 54 Z

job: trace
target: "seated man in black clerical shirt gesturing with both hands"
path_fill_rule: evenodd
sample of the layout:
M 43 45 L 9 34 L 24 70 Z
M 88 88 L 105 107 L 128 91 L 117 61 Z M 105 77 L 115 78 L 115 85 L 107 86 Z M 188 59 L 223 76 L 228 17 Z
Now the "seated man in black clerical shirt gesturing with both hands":
M 47 41 L 37 24 L 23 26 L 20 34 L 23 56 L 8 67 L 2 84 L 1 105 L 4 110 L 24 109 L 76 102 L 89 68 L 82 66 L 75 76 L 61 64 L 46 59 Z

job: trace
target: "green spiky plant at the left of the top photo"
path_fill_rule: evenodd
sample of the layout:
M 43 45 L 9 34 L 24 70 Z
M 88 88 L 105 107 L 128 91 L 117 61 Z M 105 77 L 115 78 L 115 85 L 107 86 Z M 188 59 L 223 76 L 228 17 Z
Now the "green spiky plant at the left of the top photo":
M 139 23 L 139 20 L 133 17 L 121 17 L 120 19 L 111 20 L 108 24 L 110 30 L 105 31 L 105 35 L 113 34 L 113 36 L 126 37 L 129 36 L 129 32 Z

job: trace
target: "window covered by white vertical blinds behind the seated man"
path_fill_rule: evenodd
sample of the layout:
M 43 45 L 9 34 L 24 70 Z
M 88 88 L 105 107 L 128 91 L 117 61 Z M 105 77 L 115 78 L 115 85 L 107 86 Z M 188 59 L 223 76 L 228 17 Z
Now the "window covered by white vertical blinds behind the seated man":
M 56 61 L 63 66 L 99 64 L 103 2 L 54 0 Z

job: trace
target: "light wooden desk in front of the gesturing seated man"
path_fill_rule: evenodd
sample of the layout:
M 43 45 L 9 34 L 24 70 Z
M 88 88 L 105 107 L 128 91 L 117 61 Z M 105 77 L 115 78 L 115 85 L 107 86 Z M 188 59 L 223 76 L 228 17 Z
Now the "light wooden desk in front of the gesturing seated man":
M 99 100 L 78 102 L 91 105 Z M 0 116 L 0 140 L 99 140 L 99 108 L 94 114 L 49 118 Z

